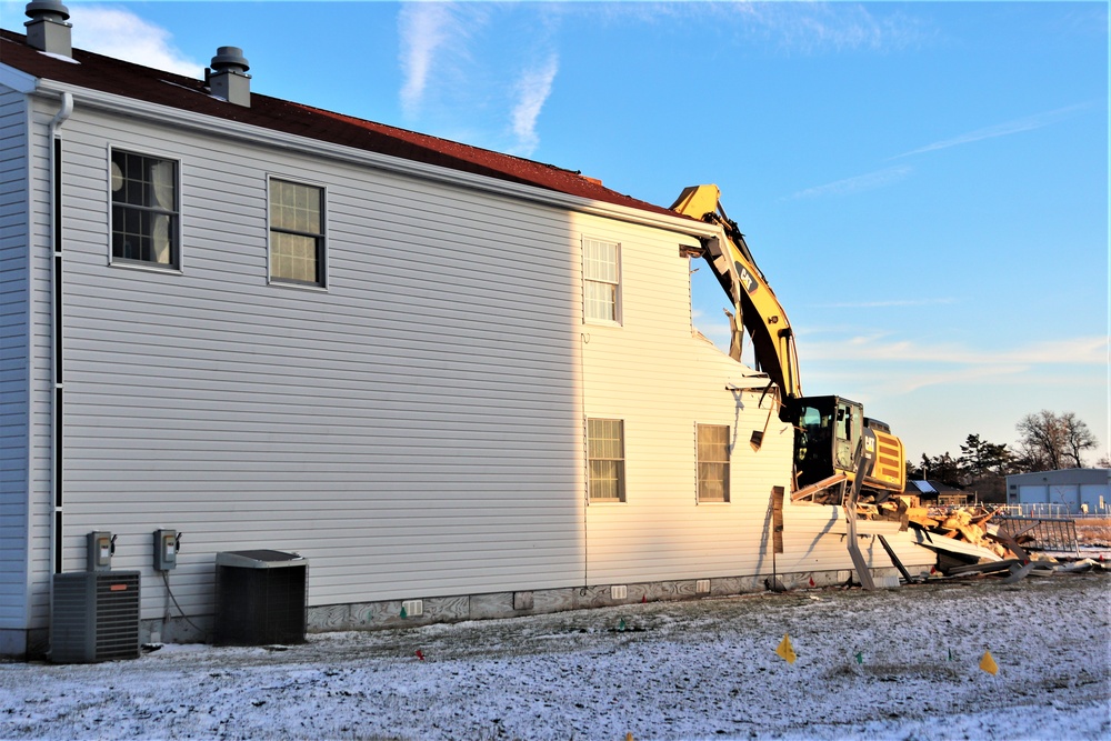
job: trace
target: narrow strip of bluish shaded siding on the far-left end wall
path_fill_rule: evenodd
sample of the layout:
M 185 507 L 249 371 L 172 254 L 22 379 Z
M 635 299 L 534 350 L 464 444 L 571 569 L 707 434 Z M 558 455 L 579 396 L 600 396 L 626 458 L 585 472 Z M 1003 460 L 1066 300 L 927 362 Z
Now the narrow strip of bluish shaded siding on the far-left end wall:
M 0 87 L 0 628 L 27 628 L 27 100 Z

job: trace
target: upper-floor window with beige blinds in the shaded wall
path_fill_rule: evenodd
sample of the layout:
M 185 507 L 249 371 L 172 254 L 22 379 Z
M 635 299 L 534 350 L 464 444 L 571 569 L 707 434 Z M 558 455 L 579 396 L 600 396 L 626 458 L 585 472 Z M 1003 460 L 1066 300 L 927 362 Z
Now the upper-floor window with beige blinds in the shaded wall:
M 324 284 L 324 190 L 270 181 L 270 279 Z

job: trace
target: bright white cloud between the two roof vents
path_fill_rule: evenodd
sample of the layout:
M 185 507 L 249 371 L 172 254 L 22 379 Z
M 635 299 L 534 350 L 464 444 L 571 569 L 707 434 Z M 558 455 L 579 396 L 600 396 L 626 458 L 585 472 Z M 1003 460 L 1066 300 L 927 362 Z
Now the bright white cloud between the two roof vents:
M 191 78 L 203 74 L 204 63 L 178 50 L 169 31 L 128 10 L 84 3 L 69 8 L 74 47 Z

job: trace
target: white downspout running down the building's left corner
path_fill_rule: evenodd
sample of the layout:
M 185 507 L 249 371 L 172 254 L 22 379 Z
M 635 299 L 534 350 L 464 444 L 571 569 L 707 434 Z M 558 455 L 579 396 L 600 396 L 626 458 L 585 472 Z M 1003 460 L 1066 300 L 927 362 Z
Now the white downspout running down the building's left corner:
M 61 94 L 61 108 L 47 126 L 47 144 L 49 153 L 49 189 L 50 189 L 50 481 L 51 499 L 53 500 L 50 518 L 50 554 L 54 573 L 61 572 L 61 520 L 62 520 L 62 481 L 61 481 L 61 401 L 62 401 L 62 359 L 61 359 L 61 148 L 57 142 L 58 130 L 73 113 L 73 94 Z M 54 581 L 50 580 L 50 610 L 53 613 Z M 52 627 L 51 627 L 52 628 Z

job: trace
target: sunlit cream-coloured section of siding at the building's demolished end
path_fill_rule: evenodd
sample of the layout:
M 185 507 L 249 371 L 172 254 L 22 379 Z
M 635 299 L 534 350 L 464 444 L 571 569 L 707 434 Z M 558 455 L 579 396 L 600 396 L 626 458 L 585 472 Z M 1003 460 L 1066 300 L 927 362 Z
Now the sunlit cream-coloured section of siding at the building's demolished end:
M 693 333 L 692 266 L 677 250 L 684 238 L 587 216 L 575 226 L 621 244 L 622 274 L 621 330 L 590 326 L 580 340 L 584 417 L 624 421 L 629 491 L 621 507 L 587 508 L 587 583 L 737 578 L 737 589 L 763 589 L 775 487 L 788 492 L 780 573 L 851 569 L 843 539 L 830 534 L 839 510 L 789 501 L 793 428 L 779 419 L 778 394 Z M 697 424 L 728 427 L 739 441 L 728 507 L 698 501 Z M 757 430 L 759 448 L 749 442 Z M 888 539 L 908 568 L 935 561 L 894 524 Z M 891 568 L 878 543 L 865 558 Z

